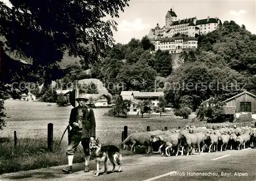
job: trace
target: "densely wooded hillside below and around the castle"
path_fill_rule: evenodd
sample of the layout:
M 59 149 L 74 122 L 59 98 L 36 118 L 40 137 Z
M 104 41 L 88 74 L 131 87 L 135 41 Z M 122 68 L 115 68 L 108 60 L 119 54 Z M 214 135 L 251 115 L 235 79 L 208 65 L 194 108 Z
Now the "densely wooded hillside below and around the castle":
M 193 110 L 209 97 L 225 100 L 244 90 L 255 93 L 256 35 L 234 21 L 224 21 L 217 30 L 199 36 L 198 48 L 179 56 L 160 50 L 151 54 L 151 46 L 145 44 L 146 37 L 116 44 L 93 67 L 92 77 L 114 83 L 108 88 L 112 95 L 120 94 L 120 86 L 164 90 L 174 108 L 187 105 Z M 181 59 L 184 63 L 177 67 Z

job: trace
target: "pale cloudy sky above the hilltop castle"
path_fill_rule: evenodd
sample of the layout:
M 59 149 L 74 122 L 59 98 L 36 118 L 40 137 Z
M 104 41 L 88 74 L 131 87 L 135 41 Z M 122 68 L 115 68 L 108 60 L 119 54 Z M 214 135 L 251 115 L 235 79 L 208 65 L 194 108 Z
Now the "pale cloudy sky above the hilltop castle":
M 8 0 L 0 0 L 7 2 Z M 10 5 L 10 4 L 9 4 Z M 165 15 L 170 8 L 184 19 L 197 16 L 197 19 L 218 17 L 222 22 L 234 20 L 238 25 L 244 24 L 252 34 L 256 34 L 256 0 L 251 1 L 162 1 L 131 0 L 129 7 L 119 13 L 117 32 L 113 32 L 116 43 L 127 43 L 132 38 L 141 39 L 156 24 L 164 26 Z

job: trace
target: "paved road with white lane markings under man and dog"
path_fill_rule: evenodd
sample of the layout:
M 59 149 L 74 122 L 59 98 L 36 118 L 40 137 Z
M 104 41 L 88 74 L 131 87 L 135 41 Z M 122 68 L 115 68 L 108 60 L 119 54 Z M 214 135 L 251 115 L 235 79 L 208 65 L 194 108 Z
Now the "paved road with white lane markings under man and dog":
M 0 180 L 256 180 L 256 149 L 251 148 L 177 157 L 134 155 L 122 157 L 122 162 L 123 172 L 99 177 L 93 177 L 93 171 L 84 173 L 83 164 L 74 164 L 73 174 L 63 174 L 61 166 L 4 174 Z M 109 165 L 112 170 L 111 163 Z M 91 162 L 92 170 L 95 166 Z M 100 167 L 103 172 L 103 164 Z

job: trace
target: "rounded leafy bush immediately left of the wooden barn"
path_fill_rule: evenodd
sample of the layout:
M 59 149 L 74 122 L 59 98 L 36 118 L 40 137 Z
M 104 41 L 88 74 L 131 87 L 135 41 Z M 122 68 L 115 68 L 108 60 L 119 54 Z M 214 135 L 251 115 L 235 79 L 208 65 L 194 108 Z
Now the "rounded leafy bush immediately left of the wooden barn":
M 197 112 L 197 117 L 203 121 L 206 118 L 209 123 L 223 122 L 224 105 L 217 98 L 210 98 L 208 101 L 202 103 Z

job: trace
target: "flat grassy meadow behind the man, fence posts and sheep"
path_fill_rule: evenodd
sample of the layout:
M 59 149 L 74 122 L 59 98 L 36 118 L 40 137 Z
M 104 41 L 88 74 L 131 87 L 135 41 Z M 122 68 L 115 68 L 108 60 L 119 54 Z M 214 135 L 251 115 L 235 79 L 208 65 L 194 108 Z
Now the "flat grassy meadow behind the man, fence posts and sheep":
M 66 129 L 70 111 L 73 108 L 58 107 L 55 103 L 27 102 L 17 100 L 5 101 L 6 127 L 0 131 L 0 138 L 7 141 L 0 143 L 0 174 L 20 170 L 46 168 L 57 165 L 66 165 L 65 154 L 68 145 L 68 133 L 61 142 L 60 150 L 57 146 L 63 131 Z M 181 117 L 144 115 L 128 115 L 127 118 L 114 118 L 104 116 L 109 109 L 94 109 L 96 119 L 96 137 L 103 145 L 114 144 L 120 146 L 123 127 L 128 127 L 128 135 L 133 132 L 183 127 L 185 125 L 196 126 L 226 126 L 237 124 L 238 126 L 250 125 L 245 123 L 218 123 L 182 119 Z M 47 125 L 53 123 L 53 152 L 47 151 Z M 17 146 L 14 148 L 14 131 L 17 133 Z M 1 141 L 1 140 L 0 140 Z M 131 151 L 121 150 L 123 155 L 132 155 Z M 93 156 L 92 156 L 93 159 Z M 83 151 L 78 148 L 74 163 L 83 162 Z

